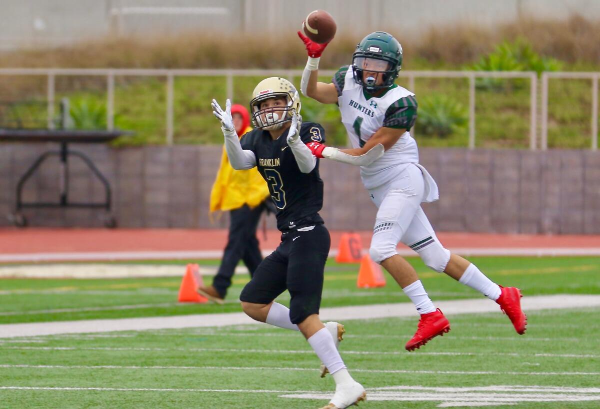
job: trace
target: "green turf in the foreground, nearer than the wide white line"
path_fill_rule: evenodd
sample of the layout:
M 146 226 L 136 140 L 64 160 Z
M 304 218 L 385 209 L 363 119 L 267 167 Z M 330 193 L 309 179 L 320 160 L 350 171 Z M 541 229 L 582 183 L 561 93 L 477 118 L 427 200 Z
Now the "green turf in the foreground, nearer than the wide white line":
M 403 349 L 414 318 L 347 321 L 340 350 L 367 397 L 383 396 L 374 388 L 395 391 L 361 408 L 434 408 L 460 396 L 592 409 L 600 404 L 599 312 L 531 312 L 525 336 L 500 313 L 449 316 L 452 331 L 415 353 Z M 2 408 L 320 408 L 334 389 L 299 333 L 264 324 L 10 341 L 0 343 Z M 451 389 L 436 389 L 444 387 Z M 594 400 L 565 401 L 582 395 Z

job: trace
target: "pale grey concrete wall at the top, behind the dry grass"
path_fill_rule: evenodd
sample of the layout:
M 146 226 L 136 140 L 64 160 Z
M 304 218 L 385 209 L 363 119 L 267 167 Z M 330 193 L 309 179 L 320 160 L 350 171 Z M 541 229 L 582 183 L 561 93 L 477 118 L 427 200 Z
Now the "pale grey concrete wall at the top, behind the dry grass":
M 290 34 L 317 8 L 334 16 L 340 32 L 361 37 L 388 29 L 400 39 L 461 22 L 489 26 L 519 16 L 564 19 L 571 14 L 600 18 L 596 0 L 0 0 L 0 5 L 0 50 L 192 29 Z

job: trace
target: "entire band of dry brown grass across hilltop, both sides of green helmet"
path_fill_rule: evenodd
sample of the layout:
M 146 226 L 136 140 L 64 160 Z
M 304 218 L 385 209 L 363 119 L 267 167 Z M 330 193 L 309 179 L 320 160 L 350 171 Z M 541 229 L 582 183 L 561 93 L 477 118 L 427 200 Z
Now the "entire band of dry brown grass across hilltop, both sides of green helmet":
M 391 32 L 394 32 L 393 30 Z M 600 64 L 600 21 L 572 16 L 568 20 L 522 19 L 496 26 L 454 25 L 428 34 L 400 38 L 410 69 L 460 67 L 471 64 L 504 41 L 523 37 L 542 55 L 568 63 Z M 338 36 L 323 55 L 321 66 L 349 63 L 358 37 Z M 135 68 L 298 68 L 304 47 L 295 35 L 283 37 L 219 37 L 186 32 L 157 38 L 101 38 L 56 49 L 5 53 L 4 67 L 135 67 Z

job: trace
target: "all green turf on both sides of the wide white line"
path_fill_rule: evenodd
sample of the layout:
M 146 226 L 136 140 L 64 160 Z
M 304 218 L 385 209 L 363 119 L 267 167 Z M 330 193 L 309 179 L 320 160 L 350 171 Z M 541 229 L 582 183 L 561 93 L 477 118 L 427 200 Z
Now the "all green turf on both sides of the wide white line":
M 420 259 L 409 260 L 434 301 L 481 297 Z M 472 261 L 496 282 L 522 288 L 525 297 L 600 294 L 598 258 Z M 182 272 L 186 262 L 176 262 Z M 384 288 L 356 288 L 357 271 L 358 265 L 328 262 L 323 307 L 408 301 L 387 274 Z M 0 323 L 239 312 L 236 300 L 247 280 L 236 276 L 230 302 L 217 306 L 177 304 L 179 277 L 2 279 Z M 362 408 L 592 409 L 600 407 L 599 313 L 532 311 L 524 336 L 500 311 L 449 315 L 451 332 L 415 353 L 404 344 L 416 317 L 349 320 L 340 349 L 367 387 Z M 320 408 L 334 383 L 319 378 L 318 368 L 299 333 L 265 324 L 0 338 L 0 408 Z

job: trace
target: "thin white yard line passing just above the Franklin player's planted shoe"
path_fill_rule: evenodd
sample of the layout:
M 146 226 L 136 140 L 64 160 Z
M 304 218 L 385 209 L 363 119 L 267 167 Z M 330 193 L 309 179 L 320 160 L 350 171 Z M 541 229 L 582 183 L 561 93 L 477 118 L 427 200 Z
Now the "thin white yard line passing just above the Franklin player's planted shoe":
M 272 366 L 137 366 L 137 365 L 0 365 L 0 368 L 35 368 L 35 369 L 167 369 L 167 370 L 199 370 L 199 371 L 310 371 L 316 368 L 276 368 Z M 432 374 L 432 375 L 532 375 L 532 376 L 596 376 L 600 372 L 506 372 L 506 371 L 409 371 L 403 369 L 360 369 L 352 368 L 352 372 L 373 374 Z

